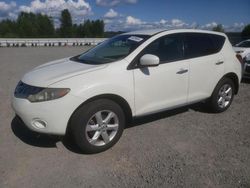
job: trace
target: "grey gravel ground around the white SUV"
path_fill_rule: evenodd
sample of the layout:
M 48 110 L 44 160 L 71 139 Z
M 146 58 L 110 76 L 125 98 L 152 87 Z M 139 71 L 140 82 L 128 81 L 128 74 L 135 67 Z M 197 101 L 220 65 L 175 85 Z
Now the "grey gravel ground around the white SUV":
M 137 119 L 100 154 L 27 130 L 10 107 L 17 82 L 82 51 L 0 48 L 0 187 L 250 187 L 249 81 L 222 114 L 195 105 Z

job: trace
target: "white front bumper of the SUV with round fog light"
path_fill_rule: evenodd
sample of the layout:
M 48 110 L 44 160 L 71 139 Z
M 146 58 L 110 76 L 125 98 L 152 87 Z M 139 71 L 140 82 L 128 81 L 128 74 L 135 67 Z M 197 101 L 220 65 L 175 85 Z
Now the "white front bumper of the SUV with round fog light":
M 81 103 L 80 98 L 68 94 L 60 99 L 37 103 L 13 96 L 11 105 L 29 129 L 65 135 L 69 119 Z M 39 122 L 43 122 L 45 126 L 39 126 Z

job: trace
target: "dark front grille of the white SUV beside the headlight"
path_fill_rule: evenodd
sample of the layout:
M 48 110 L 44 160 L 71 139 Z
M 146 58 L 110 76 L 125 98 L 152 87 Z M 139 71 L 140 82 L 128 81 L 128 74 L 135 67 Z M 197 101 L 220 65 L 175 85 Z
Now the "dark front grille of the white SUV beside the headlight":
M 26 99 L 29 95 L 37 94 L 43 89 L 42 87 L 31 86 L 20 81 L 16 86 L 14 95 L 17 98 Z

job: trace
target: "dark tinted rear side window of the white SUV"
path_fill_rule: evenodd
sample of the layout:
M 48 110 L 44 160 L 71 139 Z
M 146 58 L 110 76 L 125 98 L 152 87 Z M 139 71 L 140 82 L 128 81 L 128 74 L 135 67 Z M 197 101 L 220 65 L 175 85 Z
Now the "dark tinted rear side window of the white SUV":
M 195 58 L 218 53 L 225 42 L 225 37 L 205 33 L 185 34 L 185 58 Z

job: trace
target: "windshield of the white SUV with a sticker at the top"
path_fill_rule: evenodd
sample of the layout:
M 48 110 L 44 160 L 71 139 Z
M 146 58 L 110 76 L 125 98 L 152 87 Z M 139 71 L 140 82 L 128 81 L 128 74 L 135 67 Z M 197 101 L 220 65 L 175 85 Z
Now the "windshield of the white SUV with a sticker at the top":
M 119 35 L 104 41 L 72 60 L 87 64 L 104 64 L 125 58 L 142 44 L 148 35 Z

